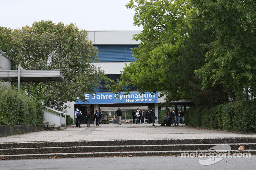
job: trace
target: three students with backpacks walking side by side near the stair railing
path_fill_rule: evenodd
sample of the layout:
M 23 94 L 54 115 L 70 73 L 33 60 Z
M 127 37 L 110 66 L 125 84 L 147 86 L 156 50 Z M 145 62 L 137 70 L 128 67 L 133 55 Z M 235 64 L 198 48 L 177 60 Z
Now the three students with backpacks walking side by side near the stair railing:
M 87 106 L 84 115 L 85 115 L 85 118 L 86 118 L 86 121 L 87 121 L 87 128 L 90 127 L 91 118 L 92 118 L 92 121 L 96 120 L 96 126 L 99 126 L 99 124 L 102 124 L 102 112 L 101 112 L 101 110 L 99 110 L 99 112 L 97 110 L 95 110 L 95 113 L 92 117 L 92 110 L 91 110 L 90 106 Z M 76 112 L 75 112 L 76 127 L 81 128 L 81 122 L 84 121 L 84 115 L 76 107 Z

